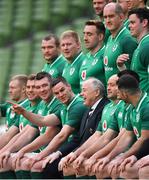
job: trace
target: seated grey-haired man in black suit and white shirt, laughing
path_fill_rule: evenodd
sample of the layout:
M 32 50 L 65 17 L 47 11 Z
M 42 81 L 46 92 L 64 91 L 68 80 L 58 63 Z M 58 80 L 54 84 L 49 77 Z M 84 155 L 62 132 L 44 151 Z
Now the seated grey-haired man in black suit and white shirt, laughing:
M 109 103 L 109 100 L 105 97 L 103 84 L 96 78 L 89 78 L 83 82 L 81 95 L 84 98 L 84 104 L 88 106 L 89 109 L 82 118 L 80 131 L 71 142 L 62 145 L 58 151 L 52 153 L 45 160 L 43 164 L 43 167 L 46 166 L 43 171 L 45 178 L 60 179 L 63 177 L 62 172 L 58 171 L 58 164 L 61 158 L 81 146 L 94 134 L 98 122 L 101 119 L 102 110 L 104 106 Z

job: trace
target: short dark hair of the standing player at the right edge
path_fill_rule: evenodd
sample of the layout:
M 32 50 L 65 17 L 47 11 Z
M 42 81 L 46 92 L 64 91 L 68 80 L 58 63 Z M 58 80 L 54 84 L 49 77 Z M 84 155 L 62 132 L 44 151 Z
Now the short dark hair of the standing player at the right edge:
M 136 14 L 136 16 L 140 19 L 142 22 L 144 19 L 148 20 L 148 27 L 149 27 L 149 9 L 147 8 L 136 8 L 129 11 L 128 16 Z

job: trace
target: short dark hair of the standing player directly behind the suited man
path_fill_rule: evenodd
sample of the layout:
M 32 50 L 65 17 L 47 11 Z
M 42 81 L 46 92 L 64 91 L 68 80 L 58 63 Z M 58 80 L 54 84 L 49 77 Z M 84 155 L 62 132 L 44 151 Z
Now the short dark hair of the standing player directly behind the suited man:
M 103 22 L 98 20 L 88 20 L 85 22 L 85 26 L 96 26 L 97 34 L 105 34 L 105 26 Z

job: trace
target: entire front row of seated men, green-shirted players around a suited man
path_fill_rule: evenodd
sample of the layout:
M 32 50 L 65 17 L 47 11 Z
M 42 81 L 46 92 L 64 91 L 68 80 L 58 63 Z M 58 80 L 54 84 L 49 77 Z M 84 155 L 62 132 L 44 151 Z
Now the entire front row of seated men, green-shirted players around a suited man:
M 121 71 L 109 78 L 106 97 L 94 77 L 79 95 L 46 72 L 13 77 L 9 93 L 18 103 L 1 105 L 8 130 L 1 135 L 0 177 L 147 178 L 148 157 L 137 157 L 147 155 L 144 148 L 148 153 L 149 97 L 139 81 L 136 72 Z

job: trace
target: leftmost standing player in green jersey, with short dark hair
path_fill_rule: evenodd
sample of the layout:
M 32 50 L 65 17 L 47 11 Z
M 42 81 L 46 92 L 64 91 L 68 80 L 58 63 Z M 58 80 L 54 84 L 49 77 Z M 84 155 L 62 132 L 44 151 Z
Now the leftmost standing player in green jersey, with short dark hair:
M 42 71 L 48 72 L 54 78 L 61 76 L 66 61 L 60 54 L 59 39 L 54 34 L 49 34 L 42 40 L 41 50 L 47 61 Z

